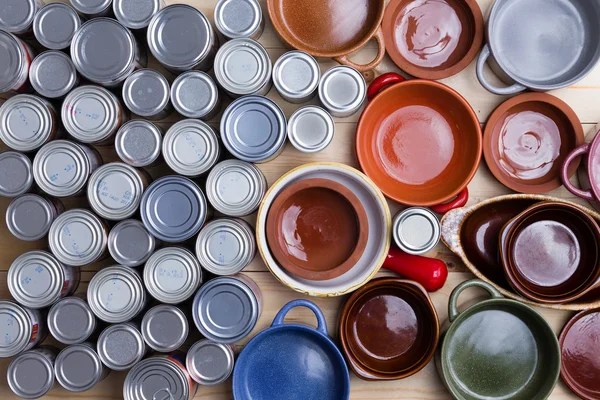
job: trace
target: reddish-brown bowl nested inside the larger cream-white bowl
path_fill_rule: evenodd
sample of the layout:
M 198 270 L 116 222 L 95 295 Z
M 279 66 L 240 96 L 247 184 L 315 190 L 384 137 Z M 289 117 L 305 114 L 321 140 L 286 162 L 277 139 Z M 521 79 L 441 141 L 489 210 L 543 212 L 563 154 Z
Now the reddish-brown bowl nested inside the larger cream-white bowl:
M 367 246 L 367 213 L 346 186 L 312 178 L 292 183 L 267 214 L 269 248 L 288 272 L 328 280 L 350 270 Z

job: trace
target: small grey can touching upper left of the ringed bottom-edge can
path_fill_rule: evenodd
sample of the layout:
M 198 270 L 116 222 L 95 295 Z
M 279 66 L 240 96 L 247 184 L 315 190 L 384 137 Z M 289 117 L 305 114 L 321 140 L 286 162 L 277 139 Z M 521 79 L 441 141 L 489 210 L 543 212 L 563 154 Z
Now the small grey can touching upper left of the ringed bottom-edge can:
M 125 371 L 140 362 L 146 344 L 140 331 L 131 323 L 110 325 L 98 337 L 98 355 L 102 363 L 115 371 Z

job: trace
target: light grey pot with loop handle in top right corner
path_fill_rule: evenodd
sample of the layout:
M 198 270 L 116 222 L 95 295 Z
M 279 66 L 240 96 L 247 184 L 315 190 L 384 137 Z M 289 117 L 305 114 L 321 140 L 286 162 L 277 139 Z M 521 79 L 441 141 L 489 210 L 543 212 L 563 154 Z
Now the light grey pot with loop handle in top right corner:
M 504 95 L 572 85 L 600 58 L 599 19 L 600 0 L 496 0 L 477 77 L 487 90 Z M 510 86 L 487 80 L 488 59 L 513 81 Z

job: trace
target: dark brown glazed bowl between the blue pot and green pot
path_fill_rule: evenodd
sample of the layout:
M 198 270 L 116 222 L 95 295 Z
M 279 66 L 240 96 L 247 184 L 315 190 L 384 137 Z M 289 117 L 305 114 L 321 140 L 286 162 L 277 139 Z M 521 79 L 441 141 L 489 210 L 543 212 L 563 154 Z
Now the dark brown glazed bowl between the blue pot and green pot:
M 431 361 L 440 324 L 421 285 L 379 278 L 346 301 L 339 334 L 344 355 L 359 378 L 396 380 L 417 373 Z

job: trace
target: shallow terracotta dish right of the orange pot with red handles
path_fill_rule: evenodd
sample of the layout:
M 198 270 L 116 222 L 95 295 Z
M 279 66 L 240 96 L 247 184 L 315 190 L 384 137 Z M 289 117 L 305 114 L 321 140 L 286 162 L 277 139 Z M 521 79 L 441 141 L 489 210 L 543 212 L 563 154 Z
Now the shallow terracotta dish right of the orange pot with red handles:
M 564 101 L 525 93 L 502 103 L 488 119 L 483 155 L 496 179 L 521 193 L 558 188 L 567 155 L 584 143 L 577 115 Z M 573 176 L 579 158 L 567 172 Z

